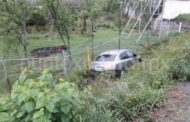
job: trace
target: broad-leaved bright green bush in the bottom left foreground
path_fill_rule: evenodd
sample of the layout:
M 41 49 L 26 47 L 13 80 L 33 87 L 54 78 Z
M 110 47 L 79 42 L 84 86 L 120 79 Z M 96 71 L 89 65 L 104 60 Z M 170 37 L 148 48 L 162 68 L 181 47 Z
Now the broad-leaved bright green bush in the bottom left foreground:
M 90 92 L 79 92 L 74 84 L 63 80 L 60 82 L 56 84 L 47 71 L 38 79 L 27 79 L 24 71 L 14 84 L 11 95 L 0 99 L 1 121 L 109 120 L 110 113 L 103 109 Z

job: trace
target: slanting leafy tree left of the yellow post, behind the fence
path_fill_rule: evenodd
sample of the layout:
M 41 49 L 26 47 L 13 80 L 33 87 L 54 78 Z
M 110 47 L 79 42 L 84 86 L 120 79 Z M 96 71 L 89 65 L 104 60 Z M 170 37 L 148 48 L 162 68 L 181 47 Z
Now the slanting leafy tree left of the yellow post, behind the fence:
M 64 0 L 44 0 L 44 2 L 54 19 L 55 28 L 57 29 L 64 45 L 67 47 L 71 59 L 70 28 L 73 23 L 71 12 L 65 5 Z

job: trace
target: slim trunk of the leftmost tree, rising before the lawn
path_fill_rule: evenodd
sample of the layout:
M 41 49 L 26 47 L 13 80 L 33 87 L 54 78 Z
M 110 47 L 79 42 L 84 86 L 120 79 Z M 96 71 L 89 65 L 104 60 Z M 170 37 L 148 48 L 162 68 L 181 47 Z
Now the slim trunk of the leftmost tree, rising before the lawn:
M 26 23 L 22 22 L 22 46 L 23 46 L 23 51 L 24 51 L 24 58 L 25 60 L 25 67 L 28 67 L 28 49 L 27 49 L 27 42 L 26 42 Z

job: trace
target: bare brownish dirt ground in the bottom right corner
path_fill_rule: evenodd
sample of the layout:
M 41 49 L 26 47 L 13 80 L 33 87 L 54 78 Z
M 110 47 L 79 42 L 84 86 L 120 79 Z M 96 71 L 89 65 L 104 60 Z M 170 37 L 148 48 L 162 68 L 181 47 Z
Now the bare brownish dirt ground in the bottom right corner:
M 154 121 L 190 122 L 190 82 L 179 82 L 169 92 L 165 105 L 154 113 Z

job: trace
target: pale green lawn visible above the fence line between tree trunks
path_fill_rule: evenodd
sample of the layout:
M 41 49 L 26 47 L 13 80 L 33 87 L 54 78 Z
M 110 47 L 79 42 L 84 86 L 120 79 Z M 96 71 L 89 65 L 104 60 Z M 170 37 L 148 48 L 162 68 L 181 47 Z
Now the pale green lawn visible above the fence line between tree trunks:
M 33 49 L 42 48 L 42 47 L 55 47 L 63 45 L 62 40 L 60 39 L 57 33 L 54 34 L 54 39 L 49 40 L 45 37 L 46 33 L 44 32 L 34 32 L 28 34 L 28 50 L 31 51 Z M 110 30 L 110 29 L 97 29 L 95 32 L 94 42 L 101 42 L 105 40 L 110 40 L 114 37 L 118 37 L 117 30 Z M 90 43 L 90 37 L 85 35 L 76 34 L 72 32 L 71 34 L 71 49 L 75 48 L 77 45 L 85 45 Z M 0 56 L 3 54 L 3 40 L 0 37 Z M 22 54 L 22 47 L 19 47 L 18 51 Z M 14 51 L 10 52 L 9 55 L 15 57 L 13 54 Z M 21 55 L 22 56 L 22 55 Z

